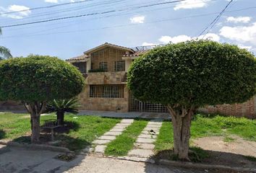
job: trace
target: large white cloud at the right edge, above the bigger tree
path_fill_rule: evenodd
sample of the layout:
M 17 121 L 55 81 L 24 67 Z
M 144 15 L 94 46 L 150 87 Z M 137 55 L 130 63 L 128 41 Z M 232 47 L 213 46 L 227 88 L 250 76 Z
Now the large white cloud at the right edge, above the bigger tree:
M 220 35 L 230 40 L 249 42 L 256 45 L 256 22 L 250 26 L 224 26 L 220 30 Z

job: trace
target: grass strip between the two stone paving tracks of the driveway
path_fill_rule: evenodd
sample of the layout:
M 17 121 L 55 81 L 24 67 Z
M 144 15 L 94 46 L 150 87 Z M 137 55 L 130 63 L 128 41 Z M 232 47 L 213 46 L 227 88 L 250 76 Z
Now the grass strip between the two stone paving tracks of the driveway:
M 147 124 L 148 121 L 146 120 L 135 120 L 114 141 L 108 143 L 105 154 L 108 156 L 126 156 L 128 151 L 133 148 L 137 136 Z

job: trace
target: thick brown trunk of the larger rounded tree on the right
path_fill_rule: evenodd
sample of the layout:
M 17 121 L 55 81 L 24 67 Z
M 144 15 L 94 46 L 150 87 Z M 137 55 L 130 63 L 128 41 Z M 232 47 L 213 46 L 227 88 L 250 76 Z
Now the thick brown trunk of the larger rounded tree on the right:
M 168 106 L 168 111 L 174 127 L 174 154 L 181 160 L 189 161 L 190 126 L 195 110 L 192 107 L 186 109 Z

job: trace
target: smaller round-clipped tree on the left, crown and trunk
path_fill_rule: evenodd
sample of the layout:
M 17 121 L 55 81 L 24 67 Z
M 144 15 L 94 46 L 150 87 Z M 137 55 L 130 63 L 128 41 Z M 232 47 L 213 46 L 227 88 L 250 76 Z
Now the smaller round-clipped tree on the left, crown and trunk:
M 85 80 L 71 64 L 50 56 L 11 58 L 0 62 L 0 99 L 25 102 L 33 143 L 40 137 L 40 114 L 46 102 L 80 94 Z

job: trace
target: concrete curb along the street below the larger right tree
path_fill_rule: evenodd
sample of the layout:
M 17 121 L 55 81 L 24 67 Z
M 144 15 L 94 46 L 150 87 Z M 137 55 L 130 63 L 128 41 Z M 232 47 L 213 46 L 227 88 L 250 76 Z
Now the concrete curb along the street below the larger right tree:
M 231 171 L 238 171 L 238 172 L 256 172 L 256 169 L 252 168 L 243 168 L 243 167 L 228 167 L 223 165 L 212 165 L 212 164 L 195 164 L 191 162 L 183 162 L 183 161 L 169 161 L 166 159 L 160 159 L 158 164 L 163 165 L 171 165 L 174 167 L 186 167 L 186 168 L 199 168 L 199 169 L 227 169 Z

